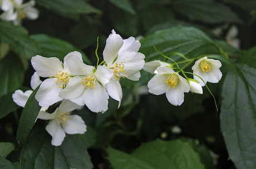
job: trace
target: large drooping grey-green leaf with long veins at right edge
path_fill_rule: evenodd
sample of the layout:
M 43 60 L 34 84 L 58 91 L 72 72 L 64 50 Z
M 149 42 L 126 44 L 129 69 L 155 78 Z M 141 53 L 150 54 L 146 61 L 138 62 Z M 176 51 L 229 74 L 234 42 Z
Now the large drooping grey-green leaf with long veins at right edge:
M 244 77 L 228 71 L 223 83 L 220 124 L 229 158 L 238 169 L 250 169 L 256 167 L 256 70 L 238 68 Z

